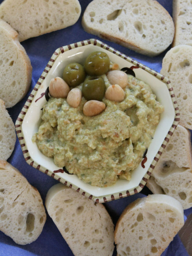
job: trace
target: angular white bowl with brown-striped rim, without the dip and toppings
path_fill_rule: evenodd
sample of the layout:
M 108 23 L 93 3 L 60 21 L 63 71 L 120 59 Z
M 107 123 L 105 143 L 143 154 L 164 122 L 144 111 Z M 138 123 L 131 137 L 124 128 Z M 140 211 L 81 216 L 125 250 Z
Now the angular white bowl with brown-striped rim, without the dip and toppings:
M 136 78 L 148 83 L 157 100 L 164 106 L 160 122 L 156 127 L 154 138 L 148 147 L 145 164 L 140 164 L 132 172 L 130 181 L 117 180 L 116 184 L 107 188 L 93 187 L 76 175 L 69 175 L 66 172 L 54 172 L 59 168 L 53 163 L 53 159 L 44 156 L 32 142 L 32 136 L 38 131 L 41 122 L 42 108 L 46 103 L 45 91 L 49 82 L 56 76 L 62 77 L 63 68 L 70 62 L 84 63 L 85 58 L 93 51 L 107 52 L 110 60 L 119 64 L 120 68 L 134 68 Z M 45 67 L 36 86 L 31 92 L 28 100 L 17 118 L 15 127 L 20 145 L 28 164 L 36 169 L 50 175 L 56 180 L 74 188 L 79 193 L 96 202 L 107 202 L 130 196 L 141 191 L 149 179 L 151 172 L 166 147 L 170 136 L 179 123 L 179 112 L 171 82 L 156 71 L 129 58 L 121 52 L 116 51 L 107 44 L 96 39 L 84 40 L 75 44 L 69 44 L 58 48 L 52 55 Z

